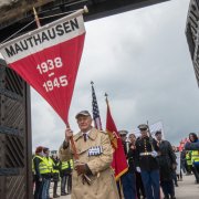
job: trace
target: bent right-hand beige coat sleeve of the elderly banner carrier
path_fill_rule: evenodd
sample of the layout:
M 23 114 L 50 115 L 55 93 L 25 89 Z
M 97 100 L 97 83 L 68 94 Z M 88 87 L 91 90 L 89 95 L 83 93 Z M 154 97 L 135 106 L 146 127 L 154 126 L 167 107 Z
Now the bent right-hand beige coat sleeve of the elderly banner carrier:
M 108 168 L 113 160 L 113 148 L 109 143 L 108 135 L 105 135 L 104 133 L 102 133 L 102 155 L 98 157 L 96 156 L 95 159 L 87 163 L 87 166 L 93 175 Z

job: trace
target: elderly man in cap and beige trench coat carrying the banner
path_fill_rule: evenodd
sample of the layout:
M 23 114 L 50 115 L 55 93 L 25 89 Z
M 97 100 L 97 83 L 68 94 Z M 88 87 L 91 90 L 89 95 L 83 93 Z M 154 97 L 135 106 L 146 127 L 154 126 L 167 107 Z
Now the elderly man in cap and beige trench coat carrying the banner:
M 108 135 L 92 127 L 92 117 L 87 111 L 76 115 L 80 132 L 73 136 L 70 128 L 65 130 L 65 153 L 74 155 L 70 144 L 73 136 L 78 161 L 72 174 L 72 199 L 118 199 L 115 177 L 111 168 L 113 148 Z M 62 150 L 62 155 L 64 150 Z M 91 182 L 84 177 L 88 177 Z

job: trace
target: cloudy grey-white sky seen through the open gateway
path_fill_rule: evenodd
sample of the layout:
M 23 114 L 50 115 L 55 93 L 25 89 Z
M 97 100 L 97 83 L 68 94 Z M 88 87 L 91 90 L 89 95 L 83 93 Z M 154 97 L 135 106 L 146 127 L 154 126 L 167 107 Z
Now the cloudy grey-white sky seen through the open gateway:
M 189 0 L 172 0 L 86 22 L 86 38 L 76 78 L 70 124 L 75 114 L 92 111 L 95 83 L 103 126 L 108 93 L 118 129 L 132 132 L 140 123 L 161 121 L 172 144 L 199 132 L 199 90 L 185 35 Z M 35 91 L 32 101 L 33 150 L 57 149 L 65 126 Z

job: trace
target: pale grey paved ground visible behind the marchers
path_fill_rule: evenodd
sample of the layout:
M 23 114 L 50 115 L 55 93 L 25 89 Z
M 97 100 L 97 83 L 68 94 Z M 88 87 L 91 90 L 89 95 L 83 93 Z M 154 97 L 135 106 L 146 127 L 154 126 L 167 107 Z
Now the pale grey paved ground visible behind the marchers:
M 176 187 L 176 198 L 177 199 L 199 199 L 199 185 L 195 184 L 195 177 L 184 176 L 182 181 L 178 181 L 179 187 Z M 52 189 L 51 189 L 52 196 Z M 59 187 L 60 195 L 60 187 Z M 62 196 L 59 199 L 71 199 L 71 196 Z M 102 198 L 103 199 L 103 198 Z

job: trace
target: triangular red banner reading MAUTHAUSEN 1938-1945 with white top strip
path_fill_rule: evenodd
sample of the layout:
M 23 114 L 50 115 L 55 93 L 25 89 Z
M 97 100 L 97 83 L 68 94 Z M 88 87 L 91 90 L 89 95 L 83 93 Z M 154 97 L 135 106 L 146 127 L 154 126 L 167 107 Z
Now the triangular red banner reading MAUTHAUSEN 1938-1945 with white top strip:
M 83 11 L 56 20 L 0 46 L 7 63 L 67 123 L 82 56 Z

